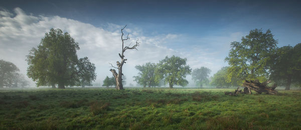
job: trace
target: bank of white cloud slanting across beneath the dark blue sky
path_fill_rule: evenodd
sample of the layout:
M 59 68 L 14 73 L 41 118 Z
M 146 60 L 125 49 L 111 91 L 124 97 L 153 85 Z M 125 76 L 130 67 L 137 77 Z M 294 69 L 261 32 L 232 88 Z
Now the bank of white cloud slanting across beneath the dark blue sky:
M 14 12 L 2 9 L 0 10 L 0 59 L 15 63 L 22 73 L 26 73 L 27 62 L 26 55 L 32 47 L 37 47 L 41 39 L 49 32 L 50 28 L 60 28 L 79 43 L 80 50 L 78 56 L 88 56 L 95 63 L 97 72 L 97 82 L 101 82 L 106 75 L 111 75 L 109 71 L 109 62 L 115 63 L 120 60 L 118 52 L 121 51 L 121 32 L 123 25 L 113 23 L 104 24 L 102 27 L 96 27 L 89 23 L 83 23 L 60 16 L 44 16 L 27 14 L 21 8 L 17 7 Z M 189 40 L 184 40 L 183 34 L 158 34 L 155 36 L 143 35 L 141 28 L 127 26 L 127 31 L 131 37 L 125 45 L 135 43 L 139 38 L 140 46 L 138 51 L 127 50 L 124 55 L 128 59 L 124 64 L 123 73 L 127 76 L 127 82 L 133 82 L 132 76 L 136 75 L 137 70 L 134 66 L 145 62 L 159 62 L 166 55 L 177 55 L 187 57 L 188 63 L 193 68 L 208 66 L 213 72 L 220 69 L 223 64 L 224 53 L 220 53 L 221 42 L 222 49 L 229 50 L 229 40 L 235 39 L 238 33 L 229 33 L 225 37 L 202 37 L 195 38 L 194 42 L 200 44 L 188 45 Z M 186 35 L 186 37 L 189 37 Z M 210 40 L 210 39 L 216 40 Z M 187 44 L 185 48 L 169 46 L 174 41 L 182 40 Z M 224 40 L 224 41 L 220 41 Z M 206 43 L 204 43 L 206 42 Z M 211 44 L 215 48 L 206 48 L 206 44 Z M 223 51 L 224 52 L 224 51 Z M 219 56 L 219 54 L 223 54 Z M 134 83 L 135 84 L 135 83 Z

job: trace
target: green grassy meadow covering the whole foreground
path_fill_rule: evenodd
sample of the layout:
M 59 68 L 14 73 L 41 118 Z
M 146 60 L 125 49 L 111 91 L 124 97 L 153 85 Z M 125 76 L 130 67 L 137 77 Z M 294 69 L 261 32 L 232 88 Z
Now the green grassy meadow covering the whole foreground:
M 301 91 L 0 89 L 0 129 L 301 129 Z

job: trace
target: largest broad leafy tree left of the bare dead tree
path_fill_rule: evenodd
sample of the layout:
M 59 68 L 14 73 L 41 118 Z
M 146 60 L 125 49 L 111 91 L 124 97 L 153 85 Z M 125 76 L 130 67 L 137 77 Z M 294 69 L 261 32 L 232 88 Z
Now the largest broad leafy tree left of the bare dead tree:
M 85 74 L 92 77 L 83 79 L 84 82 L 95 79 L 95 75 L 91 75 L 92 70 L 83 67 L 85 66 L 83 64 L 90 64 L 87 63 L 89 62 L 87 58 L 78 60 L 76 54 L 78 49 L 78 43 L 68 32 L 50 29 L 38 47 L 30 50 L 27 56 L 29 64 L 27 75 L 36 81 L 38 86 L 58 84 L 58 88 L 65 88 L 65 85 L 80 85 L 80 78 Z M 90 74 L 87 74 L 87 71 Z

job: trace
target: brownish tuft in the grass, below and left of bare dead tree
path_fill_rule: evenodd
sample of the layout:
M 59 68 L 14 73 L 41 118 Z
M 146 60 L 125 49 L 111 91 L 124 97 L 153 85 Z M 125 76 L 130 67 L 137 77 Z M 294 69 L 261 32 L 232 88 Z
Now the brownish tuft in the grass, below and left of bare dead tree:
M 90 104 L 90 111 L 93 115 L 97 115 L 99 113 L 104 113 L 106 110 L 109 109 L 109 102 L 104 101 L 93 101 Z

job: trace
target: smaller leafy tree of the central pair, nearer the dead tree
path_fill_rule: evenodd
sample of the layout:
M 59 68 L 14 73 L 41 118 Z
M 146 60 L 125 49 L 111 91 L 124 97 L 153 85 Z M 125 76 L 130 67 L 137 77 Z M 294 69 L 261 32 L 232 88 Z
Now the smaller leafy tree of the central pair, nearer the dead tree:
M 138 69 L 139 72 L 138 76 L 133 76 L 134 81 L 142 84 L 143 87 L 146 87 L 146 85 L 148 85 L 148 87 L 158 85 L 159 81 L 155 79 L 156 63 L 147 62 L 143 65 L 136 65 L 135 68 Z

